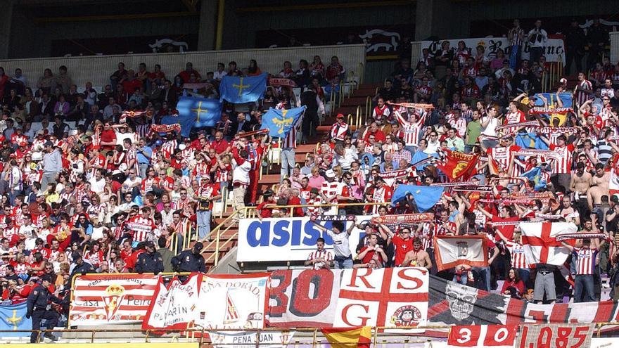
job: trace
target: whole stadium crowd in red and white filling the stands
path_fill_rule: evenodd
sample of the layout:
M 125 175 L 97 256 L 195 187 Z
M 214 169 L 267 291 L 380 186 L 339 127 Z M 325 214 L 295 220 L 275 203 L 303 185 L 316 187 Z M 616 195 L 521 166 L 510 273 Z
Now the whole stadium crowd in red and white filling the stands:
M 190 229 L 198 232 L 194 239 L 208 238 L 213 205 L 224 188 L 237 210 L 257 205 L 260 218 L 417 213 L 411 200 L 391 205 L 393 191 L 400 183 L 449 181 L 432 163 L 415 165 L 428 155 L 438 157 L 442 149 L 480 154 L 471 180 L 489 186 L 490 193 L 445 193 L 430 210 L 436 219 L 421 224 L 345 228 L 343 221 L 333 221 L 326 229 L 336 240 L 333 253 L 323 250 L 324 240 L 319 240 L 305 264 L 315 269 L 426 266 L 483 290 L 504 281 L 502 293 L 537 302 L 561 301 L 558 295 L 576 301 L 599 298 L 601 273 L 614 285 L 619 258 L 614 239 L 619 199 L 609 191 L 619 155 L 614 111 L 619 65 L 602 59 L 603 51 L 590 49 L 594 65 L 578 75 L 573 111 L 531 112 L 549 66 L 540 25 L 525 31 L 514 22 L 509 39 L 516 49 L 509 57 L 503 51 L 484 56 L 483 46 L 471 49 L 462 42 L 457 49 L 447 43 L 438 51 L 424 51 L 414 67 L 401 60 L 378 89 L 362 127 L 353 129 L 337 115 L 302 165 L 295 163 L 295 148 L 317 137 L 323 101 L 340 93 L 346 70 L 337 57 L 322 62 L 315 56 L 311 63 L 300 60 L 298 67 L 284 62 L 272 77 L 295 82 L 299 96 L 289 86 L 268 86 L 255 108 L 237 112 L 225 103 L 215 127 L 199 129 L 189 138 L 151 131 L 151 124 L 176 112 L 180 96 L 218 97 L 219 81 L 226 75 L 259 75 L 255 60 L 246 68 L 219 63 L 212 72 L 199 72 L 191 63 L 181 72 L 144 63 L 127 69 L 118 63 L 103 91 L 90 83 L 72 84 L 64 66 L 56 73 L 46 69 L 38 79 L 37 72 L 17 69 L 8 76 L 0 68 L 2 298 L 24 302 L 37 279 L 45 279 L 55 295 L 64 297 L 59 311 L 66 314 L 75 274 L 205 271 L 203 244 L 181 250 L 188 244 L 183 238 Z M 532 50 L 532 60 L 521 59 L 523 40 L 542 51 Z M 557 98 L 549 102 L 540 97 L 543 105 L 562 108 L 558 97 L 568 89 L 563 80 L 558 83 L 551 93 Z M 305 115 L 286 138 L 238 135 L 260 129 L 262 112 L 269 107 L 298 105 L 306 106 Z M 544 134 L 530 130 L 530 124 L 500 127 L 528 121 L 561 128 Z M 514 155 L 524 146 L 523 136 L 535 140 L 530 147 L 561 155 Z M 269 144 L 281 153 L 281 183 L 258 194 L 257 178 Z M 536 167 L 539 179 L 519 176 Z M 402 170 L 407 174 L 385 175 Z M 527 199 L 510 202 L 516 196 Z M 337 205 L 292 211 L 277 207 L 320 204 Z M 566 270 L 537 264 L 531 271 L 518 228 L 492 223 L 535 219 L 571 221 L 579 231 L 605 236 L 569 245 L 573 256 Z M 324 228 L 319 221 L 317 226 Z M 364 229 L 363 240 L 349 241 L 352 226 Z M 437 272 L 432 237 L 464 234 L 486 236 L 490 266 L 459 265 Z M 355 260 L 349 245 L 357 247 Z M 566 281 L 570 277 L 575 285 Z

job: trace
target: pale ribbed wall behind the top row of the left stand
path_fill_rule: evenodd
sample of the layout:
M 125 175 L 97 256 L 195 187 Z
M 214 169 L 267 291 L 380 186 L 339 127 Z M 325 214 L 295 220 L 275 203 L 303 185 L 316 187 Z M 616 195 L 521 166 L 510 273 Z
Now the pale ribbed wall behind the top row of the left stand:
M 224 63 L 227 67 L 228 62 L 232 60 L 236 61 L 238 68 L 241 69 L 249 65 L 250 59 L 255 59 L 263 72 L 278 74 L 286 60 L 292 63 L 293 69 L 296 69 L 301 59 L 311 63 L 314 56 L 320 56 L 325 65 L 328 65 L 331 56 L 338 56 L 344 68 L 348 72 L 354 72 L 355 79 L 361 83 L 365 66 L 365 49 L 365 45 L 356 44 L 184 53 L 27 58 L 0 60 L 0 66 L 4 67 L 7 75 L 13 75 L 15 68 L 20 67 L 23 70 L 23 75 L 27 77 L 28 84 L 34 89 L 46 68 L 50 68 L 56 75 L 58 67 L 65 65 L 68 67 L 68 74 L 72 82 L 82 88 L 86 82 L 92 82 L 94 86 L 98 87 L 109 84 L 109 77 L 117 70 L 118 62 L 125 63 L 127 70 L 137 70 L 139 63 L 146 63 L 150 70 L 153 69 L 155 64 L 159 64 L 166 77 L 172 80 L 175 75 L 185 69 L 187 62 L 193 63 L 193 68 L 198 70 L 200 75 L 205 78 L 206 72 L 215 71 L 217 63 Z

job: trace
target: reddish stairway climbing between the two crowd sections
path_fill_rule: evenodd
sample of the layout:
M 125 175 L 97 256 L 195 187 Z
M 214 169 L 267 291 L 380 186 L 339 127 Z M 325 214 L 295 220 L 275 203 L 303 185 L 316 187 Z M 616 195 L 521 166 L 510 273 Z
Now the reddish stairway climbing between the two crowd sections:
M 355 91 L 350 94 L 349 98 L 344 98 L 341 105 L 339 105 L 337 108 L 334 108 L 333 112 L 331 112 L 331 115 L 327 115 L 322 121 L 322 124 L 317 127 L 316 136 L 309 138 L 309 142 L 307 144 L 300 144 L 297 147 L 297 149 L 295 150 L 295 162 L 297 162 L 299 165 L 302 165 L 303 161 L 305 160 L 305 156 L 307 156 L 308 153 L 314 153 L 314 150 L 316 150 L 321 138 L 329 133 L 329 131 L 331 130 L 331 124 L 334 124 L 336 122 L 336 115 L 340 113 L 345 115 L 345 117 L 348 117 L 348 115 L 350 115 L 350 120 L 355 120 L 355 117 L 357 117 L 357 110 L 359 110 L 359 117 L 361 117 L 360 122 L 363 123 L 366 118 L 365 113 L 366 103 L 368 103 L 368 97 L 374 97 L 374 95 L 376 95 L 376 90 L 380 86 L 382 86 L 382 84 L 361 84 L 358 89 L 355 89 Z M 275 163 L 270 166 L 270 169 L 269 167 L 264 168 L 262 179 L 260 179 L 260 182 L 258 183 L 258 193 L 267 190 L 267 188 L 273 188 L 274 185 L 279 184 L 279 171 L 280 166 Z M 229 195 L 231 196 L 231 193 L 229 193 Z M 213 226 L 219 226 L 225 223 L 225 225 L 221 227 L 222 231 L 224 231 L 225 227 L 232 225 L 220 236 L 220 247 L 218 255 L 219 260 L 223 260 L 226 254 L 236 247 L 238 224 L 231 224 L 231 221 L 226 221 L 226 218 L 230 217 L 230 215 L 233 213 L 234 208 L 228 206 L 226 207 L 226 210 L 221 214 L 221 216 L 217 215 L 217 217 L 215 217 L 214 219 Z M 229 240 L 229 243 L 224 243 L 224 241 L 226 240 Z M 206 267 L 208 271 L 215 271 L 216 273 L 229 273 L 229 267 L 227 267 L 227 269 L 214 269 L 216 252 L 217 248 L 215 246 L 215 243 L 205 243 L 205 250 L 203 251 L 203 256 L 206 260 Z M 236 262 L 231 262 L 230 266 L 233 269 L 236 268 Z

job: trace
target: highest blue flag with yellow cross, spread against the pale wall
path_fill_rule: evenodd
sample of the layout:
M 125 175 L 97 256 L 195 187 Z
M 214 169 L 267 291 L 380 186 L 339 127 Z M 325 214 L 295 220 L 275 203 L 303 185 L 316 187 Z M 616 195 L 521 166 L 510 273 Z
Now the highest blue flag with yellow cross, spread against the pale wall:
M 221 101 L 230 103 L 251 103 L 264 96 L 267 90 L 267 74 L 258 76 L 224 76 L 219 84 Z

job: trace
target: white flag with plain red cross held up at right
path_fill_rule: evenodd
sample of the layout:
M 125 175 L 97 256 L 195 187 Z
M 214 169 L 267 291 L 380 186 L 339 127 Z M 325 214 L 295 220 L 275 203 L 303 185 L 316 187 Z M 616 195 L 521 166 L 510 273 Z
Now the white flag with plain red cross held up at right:
M 570 250 L 556 238 L 563 233 L 575 233 L 578 228 L 571 222 L 524 222 L 519 225 L 522 244 L 528 264 L 561 266 Z

